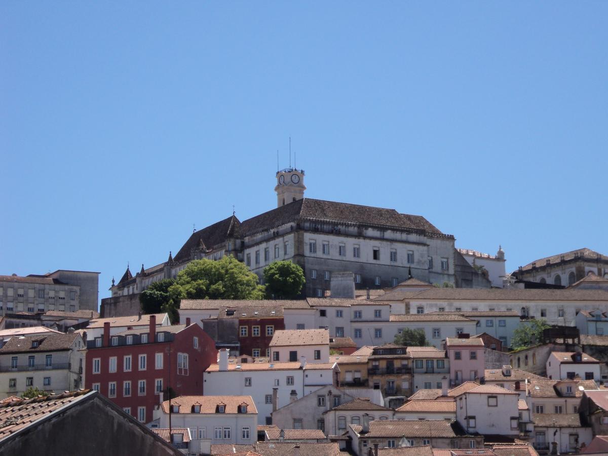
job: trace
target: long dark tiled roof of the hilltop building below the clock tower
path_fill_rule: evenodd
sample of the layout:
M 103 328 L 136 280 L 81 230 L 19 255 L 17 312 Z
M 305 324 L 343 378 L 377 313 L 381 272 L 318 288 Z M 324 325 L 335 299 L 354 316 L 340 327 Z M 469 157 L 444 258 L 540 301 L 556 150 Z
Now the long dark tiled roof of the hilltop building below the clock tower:
M 252 235 L 284 224 L 304 220 L 351 223 L 400 230 L 420 230 L 429 234 L 444 235 L 437 227 L 420 215 L 402 214 L 395 209 L 311 198 L 299 199 L 247 219 L 241 224 L 241 233 L 244 236 Z

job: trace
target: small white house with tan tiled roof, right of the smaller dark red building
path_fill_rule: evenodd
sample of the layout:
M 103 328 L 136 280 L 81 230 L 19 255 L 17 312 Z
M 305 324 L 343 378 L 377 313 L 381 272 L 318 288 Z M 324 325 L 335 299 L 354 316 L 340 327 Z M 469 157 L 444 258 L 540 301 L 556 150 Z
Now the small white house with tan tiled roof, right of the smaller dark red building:
M 304 358 L 330 362 L 330 334 L 327 330 L 278 330 L 269 347 L 272 361 L 297 362 Z

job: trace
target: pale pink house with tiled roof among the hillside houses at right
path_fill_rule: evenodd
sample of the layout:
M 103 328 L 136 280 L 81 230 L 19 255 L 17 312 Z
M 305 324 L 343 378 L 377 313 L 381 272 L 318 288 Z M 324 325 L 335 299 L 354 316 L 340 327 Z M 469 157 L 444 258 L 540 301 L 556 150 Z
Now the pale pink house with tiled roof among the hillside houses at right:
M 450 384 L 480 381 L 484 375 L 483 340 L 479 337 L 447 337 L 446 351 L 450 360 Z

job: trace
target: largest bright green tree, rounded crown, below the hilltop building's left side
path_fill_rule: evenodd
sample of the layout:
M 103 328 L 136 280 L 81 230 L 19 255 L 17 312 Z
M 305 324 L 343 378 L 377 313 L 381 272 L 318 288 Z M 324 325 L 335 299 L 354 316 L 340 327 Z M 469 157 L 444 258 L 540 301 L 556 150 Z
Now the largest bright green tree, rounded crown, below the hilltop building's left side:
M 218 261 L 194 260 L 179 272 L 168 289 L 170 304 L 182 299 L 262 299 L 258 276 L 231 255 Z

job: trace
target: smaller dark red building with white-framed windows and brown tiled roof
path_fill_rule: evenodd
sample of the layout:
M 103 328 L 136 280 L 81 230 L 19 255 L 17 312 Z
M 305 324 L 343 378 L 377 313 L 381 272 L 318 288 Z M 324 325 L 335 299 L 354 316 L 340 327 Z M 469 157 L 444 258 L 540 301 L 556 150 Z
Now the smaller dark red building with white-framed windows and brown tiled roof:
M 218 319 L 238 319 L 239 354 L 270 356 L 269 345 L 274 332 L 285 329 L 282 306 L 247 306 L 223 309 Z

